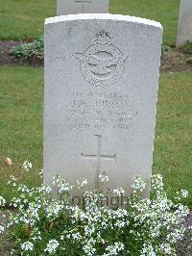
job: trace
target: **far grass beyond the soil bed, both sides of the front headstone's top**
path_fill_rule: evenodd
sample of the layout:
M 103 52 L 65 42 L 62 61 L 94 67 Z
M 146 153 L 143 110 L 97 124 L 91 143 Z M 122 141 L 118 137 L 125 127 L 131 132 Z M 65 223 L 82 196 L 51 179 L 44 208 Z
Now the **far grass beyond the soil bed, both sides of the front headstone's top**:
M 56 15 L 56 0 L 0 0 L 0 39 L 38 37 L 45 17 Z M 180 0 L 110 0 L 110 13 L 160 21 L 163 43 L 175 45 Z

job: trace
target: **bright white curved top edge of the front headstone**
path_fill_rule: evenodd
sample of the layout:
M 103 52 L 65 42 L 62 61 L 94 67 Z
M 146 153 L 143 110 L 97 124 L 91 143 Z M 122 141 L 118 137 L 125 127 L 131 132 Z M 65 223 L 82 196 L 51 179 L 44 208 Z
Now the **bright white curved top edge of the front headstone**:
M 79 13 L 79 14 L 69 14 L 69 15 L 49 17 L 45 19 L 45 25 L 62 22 L 62 21 L 86 20 L 86 19 L 127 21 L 132 23 L 150 25 L 150 26 L 154 26 L 156 28 L 162 29 L 162 26 L 159 22 L 156 22 L 151 19 L 129 16 L 129 15 L 121 15 L 121 14 L 109 14 L 109 13 Z

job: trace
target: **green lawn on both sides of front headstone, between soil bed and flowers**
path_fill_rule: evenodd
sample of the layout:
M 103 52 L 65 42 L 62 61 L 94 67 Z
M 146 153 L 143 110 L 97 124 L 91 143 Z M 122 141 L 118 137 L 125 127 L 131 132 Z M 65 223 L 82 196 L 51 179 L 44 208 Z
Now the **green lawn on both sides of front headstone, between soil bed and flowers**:
M 6 186 L 11 174 L 29 185 L 38 185 L 36 171 L 42 167 L 43 69 L 0 66 L 0 194 L 11 199 Z M 186 189 L 192 207 L 192 73 L 163 74 L 160 78 L 154 173 L 164 177 L 167 191 Z M 13 165 L 3 159 L 11 157 Z M 34 164 L 23 177 L 24 160 Z

